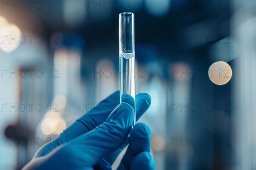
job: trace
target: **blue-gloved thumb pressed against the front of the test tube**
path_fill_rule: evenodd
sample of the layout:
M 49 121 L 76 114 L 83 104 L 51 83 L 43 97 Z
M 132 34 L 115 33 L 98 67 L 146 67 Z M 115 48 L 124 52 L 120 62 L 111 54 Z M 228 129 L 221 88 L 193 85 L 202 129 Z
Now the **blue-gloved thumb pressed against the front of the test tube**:
M 122 146 L 134 121 L 134 109 L 128 103 L 121 103 L 108 116 L 106 121 L 95 129 L 79 136 L 70 144 L 75 144 L 86 158 L 86 164 L 95 165 Z

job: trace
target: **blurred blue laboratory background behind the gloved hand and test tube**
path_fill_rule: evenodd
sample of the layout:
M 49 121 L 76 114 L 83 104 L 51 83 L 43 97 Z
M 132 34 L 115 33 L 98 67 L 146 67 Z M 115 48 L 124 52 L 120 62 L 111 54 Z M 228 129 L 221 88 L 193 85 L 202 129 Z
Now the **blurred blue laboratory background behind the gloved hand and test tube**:
M 256 1 L 0 3 L 1 170 L 23 167 L 119 90 L 125 11 L 135 16 L 136 94 L 152 98 L 140 122 L 156 169 L 256 169 Z M 232 70 L 209 71 L 218 61 Z

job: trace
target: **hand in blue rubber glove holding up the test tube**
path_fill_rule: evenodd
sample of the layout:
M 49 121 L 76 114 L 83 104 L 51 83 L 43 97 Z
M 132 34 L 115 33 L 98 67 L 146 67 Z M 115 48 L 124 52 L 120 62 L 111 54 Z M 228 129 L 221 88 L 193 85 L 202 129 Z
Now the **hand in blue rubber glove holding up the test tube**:
M 133 98 L 119 91 L 99 103 L 77 119 L 55 140 L 45 144 L 23 169 L 111 169 L 122 149 L 128 149 L 118 169 L 154 169 L 150 154 L 150 128 L 134 121 Z M 145 113 L 151 97 L 142 93 L 136 96 L 137 120 Z M 128 134 L 131 134 L 127 140 Z

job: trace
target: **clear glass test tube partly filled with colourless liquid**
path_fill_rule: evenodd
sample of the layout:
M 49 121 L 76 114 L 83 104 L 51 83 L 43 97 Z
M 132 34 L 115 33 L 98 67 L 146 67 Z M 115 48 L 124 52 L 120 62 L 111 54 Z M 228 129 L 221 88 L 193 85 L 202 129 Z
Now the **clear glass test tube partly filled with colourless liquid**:
M 120 74 L 120 102 L 122 94 L 129 94 L 134 98 L 135 111 L 135 51 L 134 51 L 134 14 L 123 12 L 119 14 L 119 74 Z

